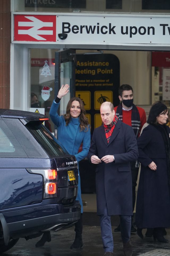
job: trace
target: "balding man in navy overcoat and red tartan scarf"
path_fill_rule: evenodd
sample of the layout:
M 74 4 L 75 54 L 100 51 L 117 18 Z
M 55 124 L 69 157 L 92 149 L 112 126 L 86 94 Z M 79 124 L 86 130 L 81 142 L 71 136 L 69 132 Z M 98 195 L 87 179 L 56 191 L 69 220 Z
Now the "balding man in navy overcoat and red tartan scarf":
M 111 102 L 101 104 L 100 114 L 103 125 L 94 130 L 88 159 L 96 164 L 97 215 L 100 215 L 104 255 L 113 255 L 110 215 L 120 215 L 124 254 L 131 256 L 130 162 L 138 158 L 137 141 L 133 128 L 118 120 Z

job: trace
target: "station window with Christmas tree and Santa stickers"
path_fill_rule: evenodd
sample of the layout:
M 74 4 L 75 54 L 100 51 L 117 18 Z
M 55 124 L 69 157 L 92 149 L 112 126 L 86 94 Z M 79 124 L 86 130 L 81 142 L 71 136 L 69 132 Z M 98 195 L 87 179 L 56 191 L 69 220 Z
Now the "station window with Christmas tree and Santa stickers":
M 54 57 L 53 49 L 31 49 L 31 91 L 30 111 L 45 114 L 49 121 L 45 126 L 53 131 L 53 123 L 50 121 L 49 111 L 54 95 Z

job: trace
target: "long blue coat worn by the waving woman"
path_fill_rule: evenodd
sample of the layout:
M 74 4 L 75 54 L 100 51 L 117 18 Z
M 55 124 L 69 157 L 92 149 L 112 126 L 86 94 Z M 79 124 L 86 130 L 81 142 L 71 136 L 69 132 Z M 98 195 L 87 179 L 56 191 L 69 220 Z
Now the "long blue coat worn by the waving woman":
M 80 131 L 79 118 L 71 118 L 69 124 L 66 126 L 66 122 L 63 116 L 57 114 L 57 110 L 60 103 L 53 101 L 50 108 L 50 117 L 53 123 L 57 126 L 58 140 L 61 142 L 63 147 L 68 151 L 70 155 L 75 155 L 77 162 L 87 157 L 88 150 L 90 147 L 90 127 L 85 131 Z M 78 153 L 79 147 L 83 142 L 83 149 Z M 81 212 L 83 212 L 83 204 L 81 199 L 81 187 L 80 187 L 80 173 L 78 170 L 78 194 L 77 200 L 81 204 Z

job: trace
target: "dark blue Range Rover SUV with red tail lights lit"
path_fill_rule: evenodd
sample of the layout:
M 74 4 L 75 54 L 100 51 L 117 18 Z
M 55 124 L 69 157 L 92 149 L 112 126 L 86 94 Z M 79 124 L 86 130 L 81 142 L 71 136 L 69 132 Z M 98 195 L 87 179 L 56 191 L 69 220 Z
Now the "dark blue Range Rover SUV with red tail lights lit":
M 0 109 L 0 251 L 20 237 L 73 225 L 78 167 L 43 125 L 45 115 Z

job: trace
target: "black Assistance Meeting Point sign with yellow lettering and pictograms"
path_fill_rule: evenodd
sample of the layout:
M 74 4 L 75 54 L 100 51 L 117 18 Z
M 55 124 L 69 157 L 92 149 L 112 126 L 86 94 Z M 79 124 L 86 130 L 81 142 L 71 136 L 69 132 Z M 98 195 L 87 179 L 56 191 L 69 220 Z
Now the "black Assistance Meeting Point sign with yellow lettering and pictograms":
M 119 104 L 119 59 L 114 54 L 79 54 L 75 73 L 76 97 L 84 103 L 93 133 L 94 128 L 101 125 L 101 103 L 110 101 L 114 106 Z

